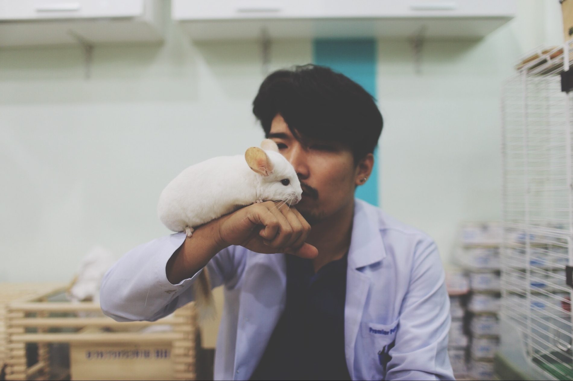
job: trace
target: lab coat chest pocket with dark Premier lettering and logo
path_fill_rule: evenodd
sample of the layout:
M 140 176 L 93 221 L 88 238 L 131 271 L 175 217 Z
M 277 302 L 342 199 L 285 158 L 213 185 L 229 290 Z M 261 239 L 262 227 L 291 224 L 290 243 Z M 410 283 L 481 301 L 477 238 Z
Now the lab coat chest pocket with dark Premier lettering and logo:
M 394 348 L 398 320 L 391 324 L 364 321 L 361 324 L 363 339 L 363 361 L 367 374 L 372 379 L 383 379 L 391 357 L 388 352 Z

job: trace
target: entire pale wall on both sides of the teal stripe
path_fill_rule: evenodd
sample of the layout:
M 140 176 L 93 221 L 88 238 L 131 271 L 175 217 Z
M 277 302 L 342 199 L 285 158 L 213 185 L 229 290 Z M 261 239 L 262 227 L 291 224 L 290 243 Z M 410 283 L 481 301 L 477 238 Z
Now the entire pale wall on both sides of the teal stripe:
M 380 200 L 449 255 L 460 220 L 500 217 L 500 87 L 514 61 L 560 40 L 550 2 L 479 42 L 379 41 L 386 124 Z M 552 8 L 555 10 L 555 7 Z M 558 41 L 559 42 L 559 41 Z M 0 281 L 68 281 L 93 244 L 118 257 L 170 234 L 159 192 L 186 166 L 262 138 L 251 102 L 264 78 L 252 42 L 0 50 Z M 272 69 L 312 61 L 312 41 L 274 42 Z

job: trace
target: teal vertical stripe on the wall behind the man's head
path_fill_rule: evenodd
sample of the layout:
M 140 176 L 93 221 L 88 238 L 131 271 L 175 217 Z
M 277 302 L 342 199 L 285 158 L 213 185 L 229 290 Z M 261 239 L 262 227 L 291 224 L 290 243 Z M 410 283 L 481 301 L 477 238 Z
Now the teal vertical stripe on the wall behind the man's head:
M 343 73 L 376 97 L 376 40 L 316 39 L 312 44 L 313 62 Z M 356 197 L 378 206 L 378 147 L 374 169 L 368 181 L 356 189 Z

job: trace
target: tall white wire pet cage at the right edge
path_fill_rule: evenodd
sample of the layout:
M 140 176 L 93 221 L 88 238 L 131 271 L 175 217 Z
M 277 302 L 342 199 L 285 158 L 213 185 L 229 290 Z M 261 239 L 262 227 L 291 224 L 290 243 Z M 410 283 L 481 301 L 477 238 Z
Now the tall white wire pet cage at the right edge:
M 502 96 L 501 318 L 516 329 L 521 343 L 515 345 L 529 364 L 561 380 L 573 379 L 566 282 L 573 264 L 573 92 L 562 91 L 562 81 L 570 81 L 572 43 L 521 61 Z

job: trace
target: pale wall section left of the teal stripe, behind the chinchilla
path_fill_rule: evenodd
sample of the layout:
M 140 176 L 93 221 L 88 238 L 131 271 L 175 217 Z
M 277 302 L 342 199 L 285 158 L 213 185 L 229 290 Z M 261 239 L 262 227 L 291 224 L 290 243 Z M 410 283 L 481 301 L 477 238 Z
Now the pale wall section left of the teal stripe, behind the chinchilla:
M 272 69 L 308 63 L 311 41 L 277 42 Z M 251 103 L 259 46 L 0 52 L 0 281 L 67 281 L 93 244 L 118 257 L 171 232 L 160 191 L 187 166 L 260 142 Z

